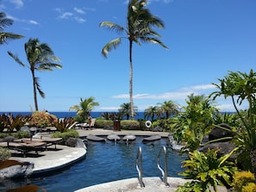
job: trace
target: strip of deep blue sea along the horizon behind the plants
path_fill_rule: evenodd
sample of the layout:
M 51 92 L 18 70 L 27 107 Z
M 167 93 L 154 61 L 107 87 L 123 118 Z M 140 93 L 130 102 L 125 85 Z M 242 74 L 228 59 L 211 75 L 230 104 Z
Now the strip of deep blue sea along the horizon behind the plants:
M 68 112 L 52 112 L 52 111 L 48 111 L 50 114 L 55 115 L 57 118 L 67 118 L 67 117 L 74 117 L 77 115 L 77 112 L 74 111 L 68 111 Z M 0 115 L 2 114 L 9 114 L 11 113 L 12 115 L 16 116 L 16 115 L 32 115 L 31 112 L 0 112 Z M 101 114 L 103 114 L 105 112 L 91 112 L 91 117 L 92 118 L 97 118 L 97 117 L 101 117 Z M 111 113 L 111 112 L 109 112 Z M 126 118 L 126 117 L 125 117 Z M 125 119 L 123 118 L 123 119 Z M 137 112 L 137 115 L 134 117 L 135 120 L 139 120 L 139 119 L 144 119 L 144 112 Z

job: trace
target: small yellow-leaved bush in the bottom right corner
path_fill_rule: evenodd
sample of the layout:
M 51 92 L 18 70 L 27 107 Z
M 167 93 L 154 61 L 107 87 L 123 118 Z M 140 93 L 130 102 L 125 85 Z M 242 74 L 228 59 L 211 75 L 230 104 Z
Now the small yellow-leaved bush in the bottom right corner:
M 254 183 L 255 177 L 252 172 L 250 171 L 237 171 L 234 173 L 234 182 L 232 184 L 233 189 L 235 192 L 250 192 L 253 190 L 249 190 L 249 188 L 253 188 L 253 186 L 250 186 L 248 189 L 244 190 L 243 188 L 248 185 L 248 183 Z M 255 186 L 255 183 L 254 183 Z M 254 190 L 256 191 L 256 190 Z

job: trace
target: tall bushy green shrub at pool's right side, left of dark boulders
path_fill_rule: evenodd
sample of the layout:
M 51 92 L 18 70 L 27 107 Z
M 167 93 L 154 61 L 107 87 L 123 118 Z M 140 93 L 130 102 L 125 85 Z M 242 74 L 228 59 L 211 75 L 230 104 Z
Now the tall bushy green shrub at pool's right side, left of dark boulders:
M 217 109 L 211 106 L 211 101 L 205 96 L 191 94 L 184 107 L 184 112 L 178 114 L 172 128 L 173 138 L 178 142 L 184 141 L 183 152 L 194 151 L 202 143 L 205 133 L 212 128 Z

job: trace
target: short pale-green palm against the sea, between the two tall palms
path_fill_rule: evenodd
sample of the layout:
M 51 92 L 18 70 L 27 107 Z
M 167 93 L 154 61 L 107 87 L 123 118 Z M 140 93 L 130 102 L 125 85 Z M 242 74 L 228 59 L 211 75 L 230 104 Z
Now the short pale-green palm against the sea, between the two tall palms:
M 99 106 L 98 102 L 94 101 L 94 97 L 89 97 L 87 99 L 80 98 L 79 105 L 74 105 L 70 107 L 70 110 L 77 111 L 78 119 L 81 121 L 85 121 L 85 119 L 88 119 L 88 117 L 91 114 L 91 111 L 94 109 L 94 107 Z

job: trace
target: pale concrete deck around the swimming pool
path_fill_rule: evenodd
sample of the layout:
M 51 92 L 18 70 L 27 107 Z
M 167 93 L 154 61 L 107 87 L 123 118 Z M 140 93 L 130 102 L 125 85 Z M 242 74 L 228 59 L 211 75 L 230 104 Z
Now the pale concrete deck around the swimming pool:
M 89 134 L 97 136 L 106 136 L 110 133 L 116 133 L 120 136 L 124 136 L 128 133 L 134 135 L 153 135 L 159 134 L 161 137 L 168 137 L 169 133 L 163 132 L 148 132 L 148 131 L 112 131 L 112 130 L 103 130 L 103 129 L 77 129 L 79 136 L 84 138 Z M 78 160 L 84 158 L 86 155 L 86 150 L 84 148 L 73 148 L 68 146 L 59 146 L 57 145 L 57 150 L 48 149 L 47 151 L 40 152 L 38 157 L 28 156 L 27 158 L 21 157 L 12 157 L 11 159 L 28 161 L 34 163 L 34 173 L 41 174 L 46 173 L 47 171 L 58 170 L 67 165 L 73 164 Z M 165 186 L 165 183 L 161 182 L 159 177 L 143 177 L 143 183 L 145 188 L 140 188 L 138 178 L 124 179 L 120 181 L 114 181 L 110 183 L 102 183 L 98 185 L 93 185 L 84 189 L 78 189 L 76 192 L 137 192 L 137 191 L 147 191 L 147 192 L 174 192 L 179 185 L 183 185 L 186 180 L 178 177 L 168 177 L 167 182 L 169 187 Z M 219 187 L 219 192 L 227 192 L 226 188 Z

